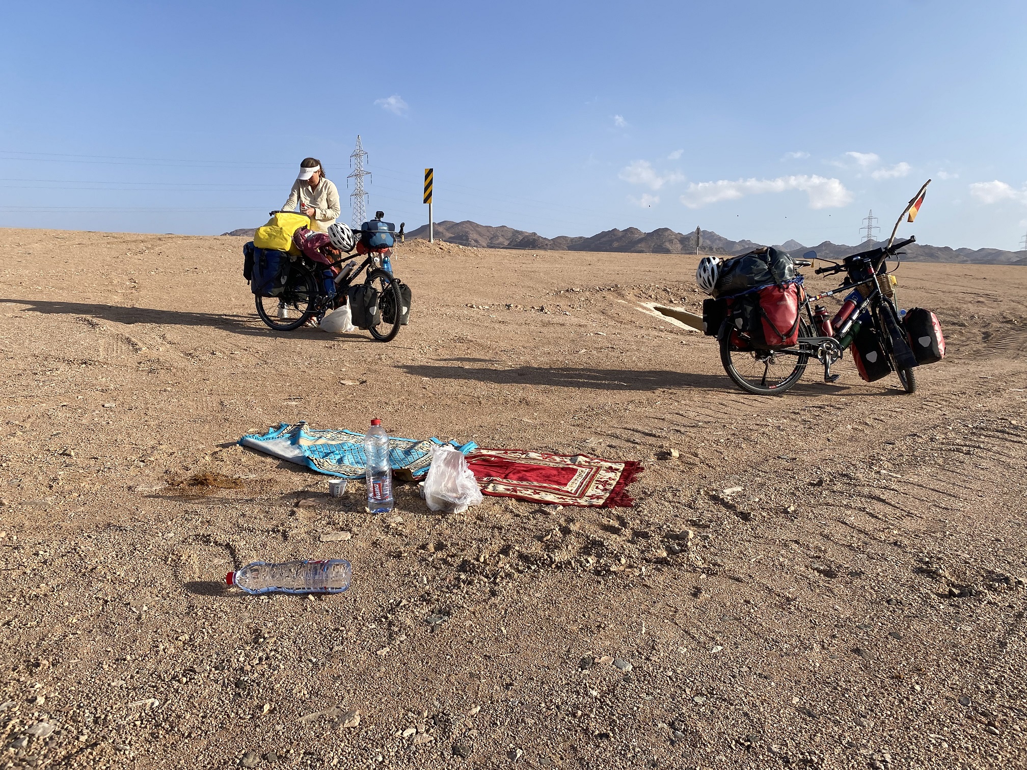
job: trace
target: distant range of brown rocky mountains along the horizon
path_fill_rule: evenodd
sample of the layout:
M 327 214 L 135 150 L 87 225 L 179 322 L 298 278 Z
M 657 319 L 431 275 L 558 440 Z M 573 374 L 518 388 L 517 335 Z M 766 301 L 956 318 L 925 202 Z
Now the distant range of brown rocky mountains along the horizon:
M 700 230 L 701 254 L 737 255 L 763 245 L 752 240 L 729 240 L 711 230 Z M 427 238 L 428 226 L 424 225 L 407 233 L 408 238 Z M 479 248 L 529 248 L 558 252 L 629 252 L 637 254 L 695 254 L 695 234 L 678 233 L 662 227 L 650 233 L 638 228 L 606 230 L 591 237 L 560 235 L 543 238 L 537 233 L 515 230 L 511 227 L 491 227 L 477 222 L 436 222 L 435 237 L 448 243 L 459 243 Z M 854 246 L 826 240 L 806 246 L 796 240 L 772 244 L 786 252 L 801 255 L 812 248 L 820 257 L 837 259 L 872 247 L 864 242 Z M 950 248 L 913 243 L 904 249 L 904 259 L 910 262 L 962 262 L 978 265 L 1027 265 L 1027 252 L 1003 252 L 1000 248 Z

